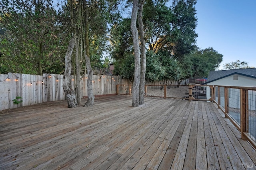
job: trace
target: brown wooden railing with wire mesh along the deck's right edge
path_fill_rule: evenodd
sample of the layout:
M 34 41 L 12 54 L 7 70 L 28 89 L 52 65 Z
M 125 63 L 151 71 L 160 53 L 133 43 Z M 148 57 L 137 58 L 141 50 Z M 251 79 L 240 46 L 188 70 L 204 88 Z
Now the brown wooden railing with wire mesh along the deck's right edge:
M 214 103 L 256 148 L 256 87 L 214 86 Z

